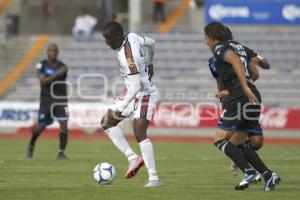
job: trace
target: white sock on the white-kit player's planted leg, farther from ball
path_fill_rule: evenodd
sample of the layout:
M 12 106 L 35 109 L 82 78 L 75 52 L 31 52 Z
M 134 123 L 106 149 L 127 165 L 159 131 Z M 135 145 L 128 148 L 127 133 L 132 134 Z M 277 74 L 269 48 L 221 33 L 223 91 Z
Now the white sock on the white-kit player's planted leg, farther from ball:
M 154 159 L 154 152 L 153 146 L 149 139 L 145 139 L 139 143 L 142 156 L 148 169 L 149 180 L 158 179 L 156 169 L 155 169 L 155 159 Z

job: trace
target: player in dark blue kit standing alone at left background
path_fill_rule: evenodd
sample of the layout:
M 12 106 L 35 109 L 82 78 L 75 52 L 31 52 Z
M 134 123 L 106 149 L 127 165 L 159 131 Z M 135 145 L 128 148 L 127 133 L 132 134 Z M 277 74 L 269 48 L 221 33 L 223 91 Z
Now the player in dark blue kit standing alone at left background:
M 32 158 L 36 140 L 45 128 L 58 120 L 60 125 L 60 144 L 57 159 L 68 159 L 64 151 L 68 140 L 68 106 L 66 78 L 68 67 L 57 59 L 59 49 L 56 44 L 47 48 L 48 58 L 36 65 L 40 81 L 40 109 L 38 124 L 32 131 L 27 149 L 27 157 Z

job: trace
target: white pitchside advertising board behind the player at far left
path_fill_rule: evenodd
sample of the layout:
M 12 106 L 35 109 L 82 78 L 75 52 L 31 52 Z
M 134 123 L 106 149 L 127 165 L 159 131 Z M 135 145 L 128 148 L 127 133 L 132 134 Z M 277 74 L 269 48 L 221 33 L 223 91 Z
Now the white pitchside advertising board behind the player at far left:
M 69 103 L 69 127 L 99 127 L 108 105 L 102 103 Z M 1 102 L 0 127 L 31 127 L 37 122 L 39 103 Z M 50 127 L 58 127 L 53 123 Z

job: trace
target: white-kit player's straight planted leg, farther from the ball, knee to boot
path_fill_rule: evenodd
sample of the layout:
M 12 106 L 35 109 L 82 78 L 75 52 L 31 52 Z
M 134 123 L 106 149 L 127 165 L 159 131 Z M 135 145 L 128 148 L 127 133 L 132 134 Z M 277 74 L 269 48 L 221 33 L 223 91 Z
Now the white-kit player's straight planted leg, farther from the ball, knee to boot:
M 154 151 L 151 141 L 147 138 L 147 129 L 149 121 L 146 118 L 135 119 L 133 130 L 137 141 L 139 142 L 143 159 L 149 174 L 149 181 L 145 187 L 159 187 L 161 182 L 156 172 Z

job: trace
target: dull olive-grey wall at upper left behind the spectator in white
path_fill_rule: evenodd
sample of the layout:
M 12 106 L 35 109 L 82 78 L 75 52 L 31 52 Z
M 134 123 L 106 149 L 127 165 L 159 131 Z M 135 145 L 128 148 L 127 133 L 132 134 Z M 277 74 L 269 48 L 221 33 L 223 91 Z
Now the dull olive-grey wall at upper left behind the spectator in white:
M 45 2 L 52 2 L 51 14 L 45 12 Z M 81 9 L 101 21 L 102 0 L 22 0 L 21 34 L 71 34 Z

